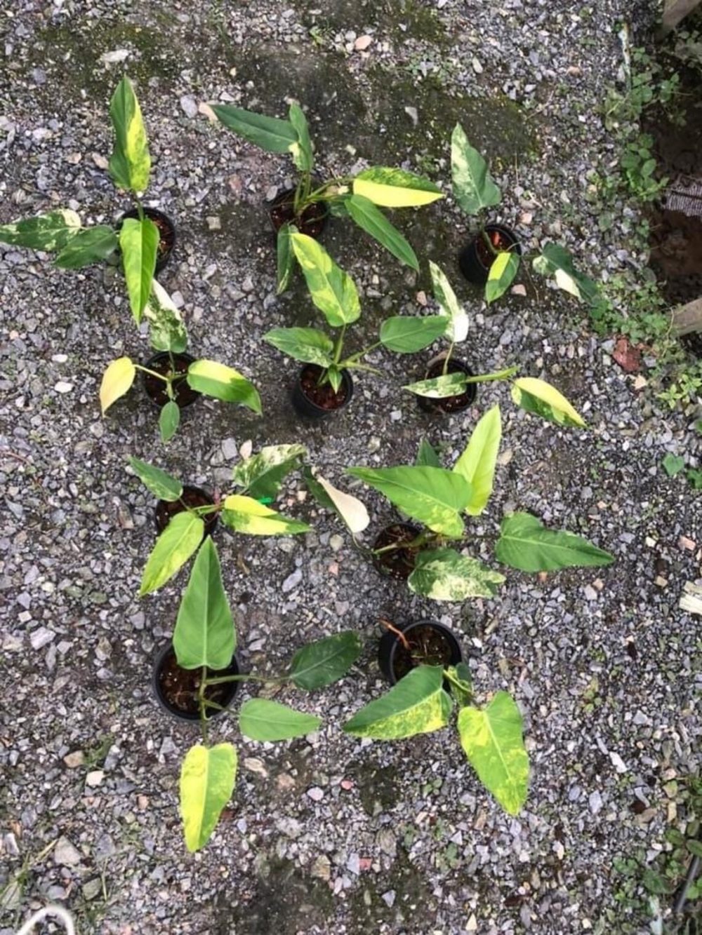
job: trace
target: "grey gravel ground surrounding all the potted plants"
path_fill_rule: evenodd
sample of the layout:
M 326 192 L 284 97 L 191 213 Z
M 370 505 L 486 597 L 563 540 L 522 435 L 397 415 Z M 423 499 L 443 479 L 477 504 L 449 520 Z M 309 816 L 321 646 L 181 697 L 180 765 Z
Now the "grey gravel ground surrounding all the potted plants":
M 179 227 L 162 281 L 183 302 L 195 352 L 254 379 L 265 417 L 200 403 L 167 451 L 137 390 L 101 419 L 106 363 L 148 355 L 119 278 L 100 266 L 62 272 L 0 246 L 0 886 L 18 882 L 2 900 L 0 935 L 47 899 L 76 913 L 81 935 L 649 931 L 645 916 L 618 906 L 612 862 L 640 855 L 643 871 L 655 861 L 666 827 L 684 817 L 681 780 L 699 771 L 698 624 L 677 608 L 683 583 L 701 573 L 702 515 L 699 496 L 661 468 L 666 452 L 699 464 L 699 412 L 670 414 L 636 390 L 612 362 L 612 342 L 592 338 L 567 297 L 527 281 L 527 296 L 507 296 L 486 314 L 456 274 L 475 323 L 466 349 L 474 369 L 519 362 L 546 376 L 583 411 L 589 432 L 534 421 L 498 384 L 481 389 L 467 414 L 432 421 L 399 388 L 424 355 L 378 354 L 385 376 L 363 375 L 343 416 L 300 425 L 287 401 L 293 368 L 260 342 L 273 325 L 313 317 L 299 281 L 274 295 L 261 200 L 289 166 L 197 112 L 199 102 L 221 100 L 282 114 L 294 95 L 309 107 L 324 170 L 373 159 L 419 165 L 445 183 L 447 139 L 460 119 L 507 193 L 502 218 L 534 242 L 559 237 L 581 266 L 607 276 L 642 260 L 627 251 L 636 218 L 622 211 L 602 234 L 586 197 L 588 170 L 612 158 L 597 108 L 616 80 L 615 33 L 631 5 L 11 7 L 0 11 L 0 223 L 52 205 L 93 222 L 124 209 L 105 160 L 108 100 L 126 70 L 152 141 L 147 202 Z M 372 37 L 366 50 L 356 48 L 359 36 Z M 115 50 L 127 51 L 122 64 L 102 59 Z M 420 255 L 454 268 L 465 222 L 449 204 L 398 223 Z M 388 310 L 417 311 L 429 283 L 355 235 L 337 221 L 325 242 L 362 287 L 360 343 Z M 154 504 L 127 473 L 127 455 L 221 486 L 245 439 L 255 448 L 301 440 L 343 482 L 346 465 L 408 462 L 423 435 L 452 458 L 496 401 L 505 441 L 476 531 L 490 540 L 505 511 L 526 509 L 580 530 L 616 564 L 545 582 L 509 571 L 500 599 L 432 604 L 380 579 L 294 480 L 287 508 L 314 533 L 219 534 L 241 657 L 272 672 L 300 641 L 346 627 L 362 632 L 366 650 L 351 677 L 301 699 L 324 715 L 319 734 L 273 746 L 241 741 L 233 723 L 217 727 L 239 746 L 240 778 L 209 846 L 187 856 L 177 777 L 197 735 L 171 723 L 150 689 L 184 575 L 136 597 Z M 366 499 L 372 534 L 391 514 L 380 498 Z M 394 745 L 339 731 L 382 688 L 379 613 L 452 626 L 479 692 L 515 693 L 533 761 L 519 819 L 484 794 L 448 731 Z

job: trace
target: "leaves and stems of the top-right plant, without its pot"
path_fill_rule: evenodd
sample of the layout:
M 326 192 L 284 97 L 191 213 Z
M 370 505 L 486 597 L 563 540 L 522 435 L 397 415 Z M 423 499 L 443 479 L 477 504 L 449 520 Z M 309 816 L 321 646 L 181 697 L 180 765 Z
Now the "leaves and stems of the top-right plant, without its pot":
M 488 164 L 483 156 L 468 142 L 465 131 L 457 123 L 451 136 L 451 178 L 453 196 L 466 214 L 478 218 L 478 237 L 482 237 L 486 252 L 492 257 L 485 284 L 486 302 L 505 295 L 519 271 L 519 244 L 508 250 L 493 243 L 485 229 L 486 209 L 494 208 L 502 201 L 502 192 L 490 176 Z M 592 305 L 598 297 L 597 284 L 579 273 L 573 257 L 556 243 L 545 243 L 532 260 L 534 270 L 542 276 L 552 277 L 556 285 L 565 292 Z

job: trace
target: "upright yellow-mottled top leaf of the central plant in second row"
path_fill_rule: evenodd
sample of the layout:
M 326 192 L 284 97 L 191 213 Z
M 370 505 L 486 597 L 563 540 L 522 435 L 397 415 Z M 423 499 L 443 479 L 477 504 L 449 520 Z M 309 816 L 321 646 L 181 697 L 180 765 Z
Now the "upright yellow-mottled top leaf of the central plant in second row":
M 329 324 L 336 328 L 355 322 L 360 315 L 356 283 L 313 237 L 291 234 L 290 241 L 312 301 L 324 313 Z

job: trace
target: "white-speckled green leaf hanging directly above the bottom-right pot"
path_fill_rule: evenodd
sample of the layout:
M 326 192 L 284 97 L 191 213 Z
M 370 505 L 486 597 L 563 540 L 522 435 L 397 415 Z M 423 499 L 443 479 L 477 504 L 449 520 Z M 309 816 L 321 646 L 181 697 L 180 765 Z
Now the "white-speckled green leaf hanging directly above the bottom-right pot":
M 486 568 L 476 558 L 454 549 L 429 549 L 417 554 L 407 583 L 410 591 L 432 600 L 494 597 L 505 575 Z

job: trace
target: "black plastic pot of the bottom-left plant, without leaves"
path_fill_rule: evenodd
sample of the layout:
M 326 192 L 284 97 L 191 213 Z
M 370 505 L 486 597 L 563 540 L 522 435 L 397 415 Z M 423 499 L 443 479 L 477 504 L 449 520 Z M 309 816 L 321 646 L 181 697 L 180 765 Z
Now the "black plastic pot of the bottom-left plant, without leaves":
M 237 657 L 231 657 L 227 669 L 208 669 L 207 674 L 212 678 L 222 675 L 239 675 Z M 152 686 L 156 700 L 169 714 L 182 721 L 199 721 L 199 708 L 197 706 L 197 690 L 199 688 L 202 669 L 181 669 L 176 661 L 173 643 L 169 642 L 156 656 Z M 205 693 L 205 698 L 215 704 L 227 708 L 234 700 L 239 690 L 238 682 L 226 682 L 220 685 L 211 685 Z M 208 709 L 207 720 L 221 714 L 216 708 Z

